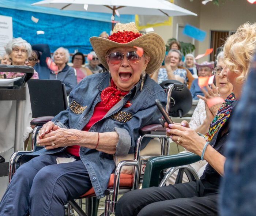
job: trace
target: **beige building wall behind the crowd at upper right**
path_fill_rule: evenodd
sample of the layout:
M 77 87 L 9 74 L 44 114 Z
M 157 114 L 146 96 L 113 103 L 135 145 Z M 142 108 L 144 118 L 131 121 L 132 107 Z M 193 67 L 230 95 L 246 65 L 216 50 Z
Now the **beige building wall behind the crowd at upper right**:
M 173 17 L 172 26 L 154 27 L 154 32 L 167 42 L 169 38 L 176 37 L 177 24 L 189 23 L 206 31 L 203 42 L 195 40 L 195 56 L 203 54 L 210 48 L 211 31 L 234 31 L 246 21 L 256 22 L 256 4 L 250 4 L 246 0 L 226 0 L 225 4 L 220 3 L 219 6 L 211 2 L 203 5 L 202 0 L 174 0 L 174 4 L 196 13 L 197 16 Z M 197 62 L 201 63 L 209 59 L 210 55 L 200 58 Z

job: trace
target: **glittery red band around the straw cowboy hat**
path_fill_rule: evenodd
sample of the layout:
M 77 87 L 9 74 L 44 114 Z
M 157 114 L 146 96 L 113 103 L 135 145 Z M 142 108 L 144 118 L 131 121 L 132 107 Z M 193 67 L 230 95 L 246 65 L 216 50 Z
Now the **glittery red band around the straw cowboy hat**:
M 116 33 L 113 33 L 112 35 L 109 36 L 109 39 L 117 43 L 128 43 L 140 36 L 142 36 L 142 34 L 139 32 L 134 33 L 133 31 L 124 30 L 124 31 L 117 31 Z

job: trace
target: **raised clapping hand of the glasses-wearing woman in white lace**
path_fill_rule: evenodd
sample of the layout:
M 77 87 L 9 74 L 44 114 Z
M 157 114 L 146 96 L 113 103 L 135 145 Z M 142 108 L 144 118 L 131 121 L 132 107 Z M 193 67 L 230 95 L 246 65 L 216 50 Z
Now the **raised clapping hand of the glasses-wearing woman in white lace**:
M 202 100 L 204 100 L 204 102 L 207 102 L 207 100 L 211 99 L 211 98 L 216 98 L 219 97 L 219 93 L 218 93 L 218 88 L 216 88 L 216 86 L 212 83 L 210 88 L 208 85 L 206 86 L 206 89 L 204 87 L 200 88 L 201 91 L 204 93 L 204 97 L 201 95 L 196 95 L 197 98 L 200 98 Z M 215 116 L 219 110 L 219 107 L 221 107 L 222 103 L 217 103 L 212 107 L 209 107 L 211 113 L 213 116 Z

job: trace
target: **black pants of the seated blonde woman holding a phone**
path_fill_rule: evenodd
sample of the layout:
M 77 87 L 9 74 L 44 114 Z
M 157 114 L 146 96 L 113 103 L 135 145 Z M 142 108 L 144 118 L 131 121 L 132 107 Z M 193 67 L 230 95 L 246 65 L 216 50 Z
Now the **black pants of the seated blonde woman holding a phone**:
M 194 181 L 165 187 L 149 187 L 124 194 L 116 216 L 218 215 L 218 187 Z

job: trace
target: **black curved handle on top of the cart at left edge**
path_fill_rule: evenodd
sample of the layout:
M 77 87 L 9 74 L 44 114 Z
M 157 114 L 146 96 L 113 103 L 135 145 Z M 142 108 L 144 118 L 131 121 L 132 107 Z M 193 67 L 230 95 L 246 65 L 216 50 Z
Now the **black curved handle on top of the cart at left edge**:
M 14 86 L 25 86 L 34 75 L 34 68 L 27 65 L 0 65 L 1 72 L 24 73 L 21 79 L 14 82 Z

